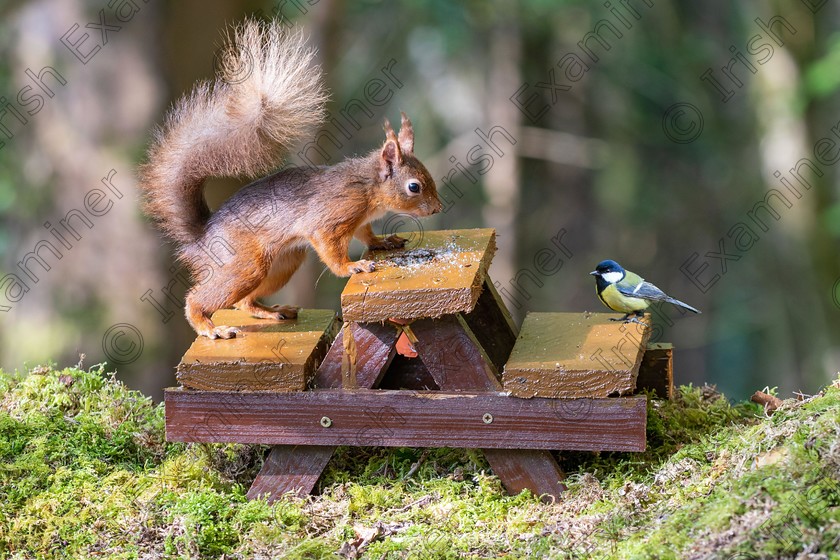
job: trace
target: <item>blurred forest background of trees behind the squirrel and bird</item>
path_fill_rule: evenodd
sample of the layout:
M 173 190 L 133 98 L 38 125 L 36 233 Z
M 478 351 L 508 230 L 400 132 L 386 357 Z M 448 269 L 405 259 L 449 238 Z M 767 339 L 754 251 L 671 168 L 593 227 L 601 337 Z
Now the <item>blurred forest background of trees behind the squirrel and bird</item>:
M 605 311 L 587 273 L 613 258 L 703 310 L 656 319 L 679 383 L 813 393 L 840 368 L 840 10 L 826 0 L 4 0 L 0 367 L 84 353 L 156 399 L 174 384 L 193 333 L 162 289 L 181 298 L 183 271 L 139 211 L 136 166 L 249 15 L 304 28 L 334 118 L 365 103 L 327 163 L 412 117 L 449 200 L 423 227 L 496 228 L 491 276 L 517 320 Z M 237 185 L 212 181 L 208 200 Z M 51 228 L 86 201 L 62 243 Z M 551 271 L 542 248 L 562 259 Z M 28 261 L 37 282 L 17 266 L 32 251 L 49 265 Z M 338 309 L 343 280 L 316 284 L 322 270 L 310 255 L 274 300 Z

